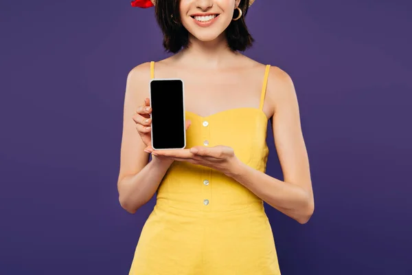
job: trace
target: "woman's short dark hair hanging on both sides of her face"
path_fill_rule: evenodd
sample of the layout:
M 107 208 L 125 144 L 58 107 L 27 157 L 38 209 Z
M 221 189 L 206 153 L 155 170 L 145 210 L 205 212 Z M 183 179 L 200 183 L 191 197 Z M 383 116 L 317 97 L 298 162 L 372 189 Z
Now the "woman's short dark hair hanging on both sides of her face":
M 168 52 L 179 52 L 189 45 L 189 32 L 183 27 L 179 11 L 180 0 L 157 0 L 155 14 L 157 23 L 163 32 L 163 47 Z M 244 51 L 251 47 L 254 39 L 247 30 L 244 17 L 249 9 L 249 0 L 240 0 L 239 8 L 242 17 L 231 21 L 225 30 L 227 43 L 233 51 Z M 238 17 L 238 10 L 234 12 Z

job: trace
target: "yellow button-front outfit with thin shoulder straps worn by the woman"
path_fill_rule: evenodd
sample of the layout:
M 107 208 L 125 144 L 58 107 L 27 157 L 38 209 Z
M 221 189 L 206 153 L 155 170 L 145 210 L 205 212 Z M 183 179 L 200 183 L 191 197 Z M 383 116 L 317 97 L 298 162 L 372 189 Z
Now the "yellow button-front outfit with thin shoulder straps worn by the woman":
M 155 63 L 151 76 L 155 77 Z M 245 164 L 264 172 L 267 118 L 260 107 L 202 117 L 190 111 L 187 148 L 231 146 Z M 280 275 L 262 199 L 231 177 L 205 166 L 174 162 L 161 181 L 129 275 Z

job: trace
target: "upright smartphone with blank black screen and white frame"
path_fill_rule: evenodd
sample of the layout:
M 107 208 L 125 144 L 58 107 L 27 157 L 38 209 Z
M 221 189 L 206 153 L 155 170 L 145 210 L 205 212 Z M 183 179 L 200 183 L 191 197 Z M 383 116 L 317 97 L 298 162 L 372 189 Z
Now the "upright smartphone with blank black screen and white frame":
M 153 149 L 186 147 L 184 94 L 183 80 L 179 78 L 150 80 Z

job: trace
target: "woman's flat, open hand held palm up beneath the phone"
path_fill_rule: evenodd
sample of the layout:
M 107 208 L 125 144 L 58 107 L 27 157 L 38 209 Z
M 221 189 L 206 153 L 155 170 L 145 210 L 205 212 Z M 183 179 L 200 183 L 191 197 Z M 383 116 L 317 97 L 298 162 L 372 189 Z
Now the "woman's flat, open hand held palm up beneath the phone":
M 219 170 L 226 175 L 231 173 L 238 164 L 233 148 L 229 146 L 193 146 L 190 149 L 155 150 L 153 155 L 167 157 L 178 162 L 190 162 L 192 164 L 207 166 Z

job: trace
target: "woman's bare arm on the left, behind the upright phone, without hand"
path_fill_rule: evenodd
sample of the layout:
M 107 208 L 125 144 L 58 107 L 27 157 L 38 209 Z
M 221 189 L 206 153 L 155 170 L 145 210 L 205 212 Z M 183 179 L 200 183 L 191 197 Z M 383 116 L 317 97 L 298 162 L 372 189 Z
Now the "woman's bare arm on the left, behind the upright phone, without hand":
M 135 67 L 128 74 L 124 97 L 117 190 L 120 205 L 132 214 L 153 197 L 173 162 L 171 159 L 159 159 L 156 156 L 149 162 L 149 153 L 144 152 L 146 144 L 137 132 L 137 123 L 133 120 L 137 108 L 144 105 L 144 100 L 148 97 L 149 81 L 150 63 Z

